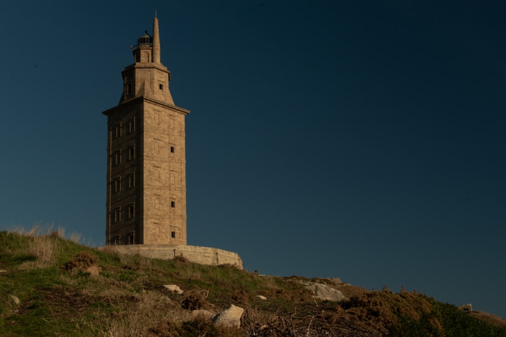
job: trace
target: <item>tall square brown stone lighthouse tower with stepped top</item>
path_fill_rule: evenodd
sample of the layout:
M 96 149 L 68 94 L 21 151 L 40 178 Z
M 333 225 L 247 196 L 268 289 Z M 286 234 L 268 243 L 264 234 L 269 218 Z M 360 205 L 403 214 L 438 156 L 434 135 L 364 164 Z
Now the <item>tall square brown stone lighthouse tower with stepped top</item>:
M 186 245 L 185 116 L 160 63 L 158 19 L 122 71 L 123 93 L 107 116 L 108 245 Z

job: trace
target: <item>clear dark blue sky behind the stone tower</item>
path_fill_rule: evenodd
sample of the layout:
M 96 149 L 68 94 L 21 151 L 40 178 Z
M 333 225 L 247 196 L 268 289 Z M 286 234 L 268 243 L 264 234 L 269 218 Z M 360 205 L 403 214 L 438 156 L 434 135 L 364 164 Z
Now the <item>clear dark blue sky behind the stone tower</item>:
M 8 2 L 0 228 L 105 244 L 102 111 L 155 9 L 188 244 L 506 318 L 501 1 Z

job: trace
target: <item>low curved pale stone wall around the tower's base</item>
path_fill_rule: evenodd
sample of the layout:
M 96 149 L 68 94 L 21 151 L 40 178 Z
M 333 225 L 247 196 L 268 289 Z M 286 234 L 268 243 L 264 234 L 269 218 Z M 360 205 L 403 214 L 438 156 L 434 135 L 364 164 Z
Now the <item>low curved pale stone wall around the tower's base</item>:
M 215 266 L 228 263 L 242 269 L 242 259 L 237 253 L 218 248 L 184 245 L 121 245 L 108 246 L 109 248 L 120 254 L 139 254 L 162 260 L 171 260 L 182 255 L 190 262 Z

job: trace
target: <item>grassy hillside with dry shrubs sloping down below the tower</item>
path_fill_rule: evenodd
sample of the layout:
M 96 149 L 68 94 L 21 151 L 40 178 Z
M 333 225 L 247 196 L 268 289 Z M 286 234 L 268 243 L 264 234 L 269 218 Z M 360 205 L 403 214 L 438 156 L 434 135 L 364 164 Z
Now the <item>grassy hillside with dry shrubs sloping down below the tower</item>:
M 97 270 L 99 275 L 92 275 Z M 350 300 L 315 301 L 301 280 L 307 281 L 183 258 L 162 261 L 98 251 L 59 231 L 3 231 L 0 335 L 506 336 L 504 320 L 466 314 L 423 294 L 370 292 L 316 278 L 311 281 Z M 184 294 L 170 293 L 164 284 L 179 285 Z M 189 319 L 193 309 L 219 312 L 230 304 L 245 309 L 240 330 Z

